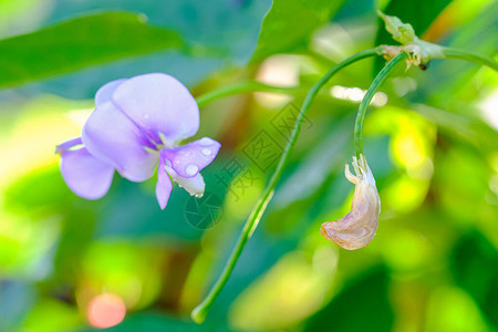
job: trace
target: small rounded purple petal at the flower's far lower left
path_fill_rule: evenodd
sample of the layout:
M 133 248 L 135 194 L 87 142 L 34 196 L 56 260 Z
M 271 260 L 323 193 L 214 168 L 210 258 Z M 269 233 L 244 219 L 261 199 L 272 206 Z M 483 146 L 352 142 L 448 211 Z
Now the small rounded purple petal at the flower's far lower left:
M 71 190 L 86 199 L 104 196 L 113 180 L 114 168 L 84 147 L 61 154 L 61 174 Z

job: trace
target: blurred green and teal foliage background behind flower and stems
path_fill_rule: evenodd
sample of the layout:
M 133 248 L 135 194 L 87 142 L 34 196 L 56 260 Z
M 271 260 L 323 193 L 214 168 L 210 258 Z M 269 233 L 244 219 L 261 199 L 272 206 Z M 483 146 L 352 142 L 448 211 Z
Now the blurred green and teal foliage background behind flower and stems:
M 355 112 L 383 61 L 335 76 L 227 287 L 190 321 L 308 90 L 354 52 L 394 44 L 376 8 L 428 41 L 498 51 L 492 0 L 273 2 L 0 0 L 0 331 L 498 330 L 498 76 L 456 60 L 400 68 L 376 94 L 364 142 L 382 212 L 357 251 L 319 229 L 350 209 Z M 117 175 L 104 198 L 76 197 L 55 145 L 80 135 L 101 85 L 147 72 L 195 96 L 247 80 L 298 89 L 200 110 L 194 138 L 222 147 L 198 204 L 174 188 L 162 211 L 155 179 Z

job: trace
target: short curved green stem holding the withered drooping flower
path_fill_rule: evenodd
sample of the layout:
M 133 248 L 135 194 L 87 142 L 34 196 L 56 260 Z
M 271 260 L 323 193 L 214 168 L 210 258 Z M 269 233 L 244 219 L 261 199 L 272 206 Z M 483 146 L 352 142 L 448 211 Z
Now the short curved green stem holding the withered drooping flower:
M 405 52 L 401 52 L 382 69 L 382 71 L 372 82 L 372 85 L 370 85 L 369 91 L 366 92 L 363 101 L 360 104 L 360 107 L 357 108 L 356 122 L 354 124 L 354 149 L 356 152 L 356 158 L 359 160 L 360 155 L 363 154 L 363 120 L 365 118 L 366 107 L 372 101 L 372 97 L 374 96 L 378 86 L 381 86 L 381 84 L 385 81 L 391 71 L 396 66 L 396 64 L 398 64 L 406 58 L 408 58 L 408 55 Z

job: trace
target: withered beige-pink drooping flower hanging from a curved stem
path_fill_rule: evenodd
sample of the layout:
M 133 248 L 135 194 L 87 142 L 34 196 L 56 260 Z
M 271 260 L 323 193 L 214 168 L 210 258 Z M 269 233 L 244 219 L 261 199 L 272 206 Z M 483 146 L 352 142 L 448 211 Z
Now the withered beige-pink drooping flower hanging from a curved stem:
M 361 249 L 370 243 L 377 230 L 381 212 L 375 179 L 365 157 L 360 155 L 360 160 L 353 157 L 352 164 L 355 176 L 345 165 L 345 177 L 356 186 L 351 210 L 343 218 L 324 222 L 320 228 L 322 236 L 347 250 Z

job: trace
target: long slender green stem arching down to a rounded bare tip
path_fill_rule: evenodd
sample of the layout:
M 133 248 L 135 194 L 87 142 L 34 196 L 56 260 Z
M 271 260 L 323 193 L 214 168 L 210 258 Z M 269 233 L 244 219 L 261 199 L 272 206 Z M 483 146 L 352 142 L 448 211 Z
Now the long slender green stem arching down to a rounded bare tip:
M 258 226 L 259 220 L 261 219 L 268 204 L 270 203 L 271 197 L 273 196 L 274 187 L 277 186 L 280 176 L 282 175 L 283 168 L 289 159 L 289 156 L 292 152 L 292 147 L 295 144 L 295 141 L 298 139 L 299 132 L 301 129 L 302 121 L 304 120 L 304 114 L 307 113 L 308 108 L 310 108 L 311 103 L 313 102 L 313 98 L 319 93 L 320 89 L 325 85 L 326 82 L 341 69 L 369 56 L 373 56 L 378 54 L 380 48 L 365 50 L 357 52 L 356 54 L 347 58 L 346 60 L 342 61 L 341 63 L 338 63 L 335 66 L 333 66 L 329 72 L 326 72 L 325 75 L 323 75 L 317 84 L 314 84 L 311 90 L 308 92 L 308 95 L 301 106 L 301 111 L 298 114 L 298 117 L 295 120 L 295 125 L 292 128 L 292 133 L 290 135 L 290 139 L 286 146 L 286 149 L 283 151 L 282 156 L 280 157 L 280 160 L 277 165 L 277 168 L 273 173 L 273 175 L 270 178 L 270 181 L 268 183 L 267 187 L 264 188 L 260 199 L 256 204 L 255 208 L 252 209 L 249 218 L 246 221 L 246 225 L 242 228 L 242 231 L 237 240 L 237 243 L 235 245 L 230 257 L 228 258 L 227 263 L 225 264 L 225 268 L 221 272 L 221 274 L 218 277 L 218 280 L 212 286 L 211 290 L 207 294 L 206 299 L 197 305 L 197 308 L 194 309 L 191 312 L 191 318 L 195 322 L 201 323 L 206 319 L 206 314 L 209 310 L 209 308 L 212 305 L 216 298 L 221 292 L 222 288 L 228 281 L 228 278 L 230 277 L 235 264 L 237 263 L 237 260 L 239 259 L 240 253 L 242 252 L 243 247 L 246 246 L 246 242 L 251 237 L 252 232 L 255 231 L 256 227 Z

